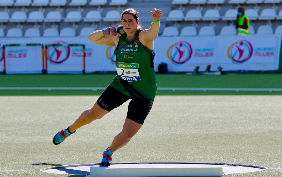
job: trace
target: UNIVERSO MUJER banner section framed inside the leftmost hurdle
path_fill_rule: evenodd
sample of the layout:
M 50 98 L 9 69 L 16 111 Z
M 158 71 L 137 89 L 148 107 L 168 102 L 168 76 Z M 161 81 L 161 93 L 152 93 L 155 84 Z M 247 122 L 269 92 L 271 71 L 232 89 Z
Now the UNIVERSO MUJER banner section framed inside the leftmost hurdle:
M 5 45 L 6 73 L 42 73 L 42 46 Z

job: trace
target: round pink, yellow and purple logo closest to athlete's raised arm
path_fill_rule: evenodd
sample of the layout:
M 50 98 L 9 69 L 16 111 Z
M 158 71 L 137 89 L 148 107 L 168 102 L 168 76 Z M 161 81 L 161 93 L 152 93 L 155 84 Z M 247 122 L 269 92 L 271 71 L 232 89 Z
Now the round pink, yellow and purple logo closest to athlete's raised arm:
M 186 41 L 178 41 L 167 50 L 167 57 L 173 64 L 180 65 L 188 61 L 192 56 L 192 47 Z

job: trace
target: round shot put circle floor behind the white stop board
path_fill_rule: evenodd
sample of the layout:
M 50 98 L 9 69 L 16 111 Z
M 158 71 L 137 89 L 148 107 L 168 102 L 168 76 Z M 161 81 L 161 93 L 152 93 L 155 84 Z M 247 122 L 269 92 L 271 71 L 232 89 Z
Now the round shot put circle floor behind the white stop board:
M 126 162 L 126 163 L 112 163 L 112 165 L 142 165 L 142 164 L 184 164 L 184 165 L 197 165 L 197 166 L 220 166 L 223 168 L 223 175 L 234 174 L 234 173 L 249 173 L 266 170 L 266 167 L 256 165 L 245 165 L 245 164 L 233 164 L 233 163 L 197 163 L 197 162 Z M 111 165 L 111 166 L 112 166 Z M 87 167 L 89 166 L 89 168 Z M 101 166 L 101 163 L 92 164 L 77 164 L 77 165 L 66 165 L 66 166 L 55 166 L 40 169 L 42 172 L 53 173 L 53 174 L 72 174 L 72 175 L 86 175 L 90 173 L 91 166 Z M 72 168 L 72 169 L 71 169 Z M 63 170 L 60 170 L 63 169 Z M 65 170 L 64 170 L 65 169 Z M 81 170 L 83 169 L 83 170 Z M 86 169 L 89 169 L 86 171 Z M 68 173 L 67 173 L 68 172 Z

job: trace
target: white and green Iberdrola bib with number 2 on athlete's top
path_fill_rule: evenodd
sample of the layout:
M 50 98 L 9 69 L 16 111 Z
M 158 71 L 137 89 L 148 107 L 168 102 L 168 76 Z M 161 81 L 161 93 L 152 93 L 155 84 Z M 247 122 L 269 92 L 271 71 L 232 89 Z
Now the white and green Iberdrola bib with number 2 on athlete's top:
M 117 73 L 119 77 L 128 82 L 141 80 L 138 69 L 139 69 L 138 63 L 118 62 L 117 65 Z

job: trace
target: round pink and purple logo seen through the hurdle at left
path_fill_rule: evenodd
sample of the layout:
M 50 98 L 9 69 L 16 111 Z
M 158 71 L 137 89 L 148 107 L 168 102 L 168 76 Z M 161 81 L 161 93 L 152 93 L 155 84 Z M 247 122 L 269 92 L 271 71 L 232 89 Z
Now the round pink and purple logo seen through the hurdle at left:
M 53 44 L 66 44 L 64 41 L 56 41 Z M 47 58 L 52 64 L 61 64 L 70 56 L 69 46 L 50 46 L 47 49 Z

